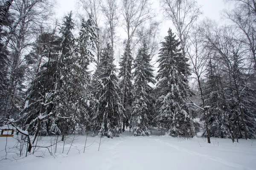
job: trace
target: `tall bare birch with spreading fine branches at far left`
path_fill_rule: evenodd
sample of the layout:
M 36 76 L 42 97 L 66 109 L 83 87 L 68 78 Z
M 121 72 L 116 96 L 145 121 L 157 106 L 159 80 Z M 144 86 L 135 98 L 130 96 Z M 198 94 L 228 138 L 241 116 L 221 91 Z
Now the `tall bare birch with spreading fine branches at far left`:
M 6 34 L 2 38 L 3 46 L 0 49 L 10 49 L 11 53 L 6 59 L 8 69 L 8 82 L 5 89 L 5 115 L 17 111 L 17 105 L 21 105 L 19 96 L 22 93 L 25 63 L 24 52 L 31 46 L 34 34 L 38 32 L 38 26 L 51 14 L 54 1 L 48 0 L 14 0 L 9 6 L 8 25 L 4 29 Z

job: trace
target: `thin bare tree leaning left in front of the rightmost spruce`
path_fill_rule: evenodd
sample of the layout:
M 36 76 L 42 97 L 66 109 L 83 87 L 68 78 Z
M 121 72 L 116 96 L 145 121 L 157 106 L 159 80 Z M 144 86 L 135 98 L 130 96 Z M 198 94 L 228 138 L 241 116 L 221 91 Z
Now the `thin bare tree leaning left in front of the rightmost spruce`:
M 233 114 L 241 120 L 244 137 L 245 139 L 248 139 L 248 129 L 245 122 L 246 114 L 244 111 L 243 96 L 245 93 L 245 89 L 247 88 L 246 82 L 250 77 L 250 62 L 242 62 L 242 64 L 239 65 L 239 62 L 244 59 L 246 53 L 243 50 L 243 45 L 241 41 L 236 39 L 236 29 L 233 30 L 231 27 L 218 28 L 218 26 L 212 25 L 210 22 L 205 23 L 204 28 L 208 29 L 202 31 L 202 35 L 207 40 L 209 48 L 212 48 L 212 50 L 216 51 L 219 54 L 217 60 L 220 62 L 220 65 L 218 69 L 225 73 L 225 81 L 228 81 L 229 83 L 229 99 L 231 101 L 231 104 L 237 108 L 237 111 L 235 111 L 235 109 L 233 110 Z M 241 70 L 245 68 L 249 72 L 247 72 L 247 74 L 244 74 L 244 76 L 241 76 Z M 241 77 L 247 78 L 244 79 Z M 239 125 L 237 125 L 237 128 L 238 127 Z

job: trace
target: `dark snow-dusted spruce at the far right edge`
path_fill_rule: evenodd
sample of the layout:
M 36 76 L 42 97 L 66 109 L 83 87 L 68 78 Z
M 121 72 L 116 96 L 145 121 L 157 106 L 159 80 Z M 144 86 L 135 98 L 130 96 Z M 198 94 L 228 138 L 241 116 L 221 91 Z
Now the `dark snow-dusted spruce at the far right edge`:
M 229 70 L 226 95 L 229 98 L 230 117 L 233 118 L 234 136 L 237 138 L 253 138 L 256 130 L 255 90 L 248 83 L 250 71 L 243 67 L 244 59 L 239 50 L 233 50 L 227 58 Z

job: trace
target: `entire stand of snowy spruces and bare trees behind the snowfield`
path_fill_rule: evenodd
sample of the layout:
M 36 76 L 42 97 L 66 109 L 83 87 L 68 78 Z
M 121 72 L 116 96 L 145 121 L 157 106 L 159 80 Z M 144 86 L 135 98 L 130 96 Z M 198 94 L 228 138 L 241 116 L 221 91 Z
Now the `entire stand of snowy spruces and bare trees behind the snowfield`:
M 230 0 L 235 7 L 223 12 L 224 26 L 199 20 L 195 0 L 160 0 L 175 28 L 160 43 L 149 0 L 78 3 L 84 15 L 76 14 L 75 24 L 72 11 L 61 23 L 52 19 L 54 1 L 1 1 L 2 125 L 14 119 L 32 143 L 88 131 L 112 138 L 125 126 L 134 136 L 152 128 L 189 137 L 201 130 L 208 143 L 212 136 L 255 137 L 255 0 Z

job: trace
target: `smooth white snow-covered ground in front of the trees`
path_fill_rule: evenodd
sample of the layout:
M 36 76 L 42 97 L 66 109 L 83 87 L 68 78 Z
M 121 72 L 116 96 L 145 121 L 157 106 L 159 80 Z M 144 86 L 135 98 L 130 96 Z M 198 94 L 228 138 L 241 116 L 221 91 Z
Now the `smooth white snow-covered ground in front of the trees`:
M 74 136 L 70 136 L 72 140 Z M 60 138 L 60 137 L 59 137 Z M 59 142 L 57 153 L 50 156 L 46 148 L 34 155 L 19 157 L 11 149 L 15 136 L 0 138 L 1 170 L 256 170 L 256 140 L 211 138 L 207 144 L 204 138 L 174 138 L 171 136 L 137 136 L 127 131 L 113 139 L 99 136 L 75 136 L 72 146 Z M 56 137 L 43 137 L 38 145 L 48 146 Z M 93 143 L 93 141 L 95 141 Z M 93 143 L 93 144 L 92 144 Z M 70 147 L 71 146 L 71 147 Z M 9 152 L 6 158 L 5 147 Z M 9 149 L 8 149 L 9 148 Z M 68 150 L 69 153 L 67 154 Z M 54 147 L 49 147 L 54 152 Z M 80 153 L 79 153 L 80 152 Z M 43 156 L 43 157 L 42 157 Z

